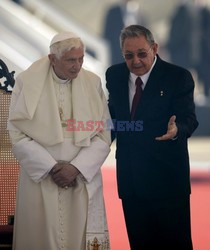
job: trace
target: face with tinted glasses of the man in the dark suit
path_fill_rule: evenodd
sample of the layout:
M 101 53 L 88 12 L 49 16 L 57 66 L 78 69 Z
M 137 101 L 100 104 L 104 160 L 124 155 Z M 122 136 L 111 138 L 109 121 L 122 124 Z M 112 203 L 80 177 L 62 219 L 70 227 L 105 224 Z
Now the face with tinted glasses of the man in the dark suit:
M 157 48 L 156 43 L 150 46 L 144 36 L 126 38 L 122 52 L 130 72 L 137 76 L 146 74 L 154 62 Z

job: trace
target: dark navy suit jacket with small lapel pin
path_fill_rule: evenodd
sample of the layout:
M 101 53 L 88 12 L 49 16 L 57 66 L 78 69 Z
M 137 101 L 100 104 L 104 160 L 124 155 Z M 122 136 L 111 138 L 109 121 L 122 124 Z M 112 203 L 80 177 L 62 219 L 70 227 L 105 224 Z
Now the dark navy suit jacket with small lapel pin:
M 111 116 L 118 122 L 127 121 L 125 124 L 131 122 L 129 73 L 125 63 L 111 66 L 106 72 Z M 143 130 L 131 131 L 125 125 L 122 131 L 120 125 L 116 131 L 121 198 L 165 199 L 190 194 L 187 138 L 198 126 L 193 91 L 190 72 L 157 55 L 136 112 L 136 120 L 143 122 Z M 172 115 L 176 115 L 178 138 L 156 141 L 155 137 L 166 133 Z

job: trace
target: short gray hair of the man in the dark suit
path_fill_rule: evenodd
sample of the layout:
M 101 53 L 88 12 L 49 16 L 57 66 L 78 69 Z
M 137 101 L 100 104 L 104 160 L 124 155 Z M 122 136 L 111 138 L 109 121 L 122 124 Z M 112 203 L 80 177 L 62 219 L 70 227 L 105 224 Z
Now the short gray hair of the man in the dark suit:
M 125 27 L 120 34 L 120 47 L 123 49 L 123 45 L 126 38 L 144 36 L 150 45 L 155 43 L 155 39 L 150 30 L 141 25 L 130 25 Z

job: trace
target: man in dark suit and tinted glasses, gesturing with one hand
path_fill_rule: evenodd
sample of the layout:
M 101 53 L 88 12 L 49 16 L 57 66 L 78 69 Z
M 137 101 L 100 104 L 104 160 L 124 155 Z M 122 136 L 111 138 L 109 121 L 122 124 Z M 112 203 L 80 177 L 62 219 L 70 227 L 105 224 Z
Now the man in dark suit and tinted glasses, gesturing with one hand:
M 145 27 L 128 26 L 120 39 L 125 63 L 111 66 L 106 80 L 131 249 L 191 250 L 187 139 L 198 126 L 194 81 L 188 70 L 159 57 Z

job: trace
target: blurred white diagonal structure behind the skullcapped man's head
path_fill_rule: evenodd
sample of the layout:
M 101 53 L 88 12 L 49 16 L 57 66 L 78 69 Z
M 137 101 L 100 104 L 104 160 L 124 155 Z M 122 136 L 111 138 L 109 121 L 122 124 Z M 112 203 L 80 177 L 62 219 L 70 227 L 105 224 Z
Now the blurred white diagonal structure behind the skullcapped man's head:
M 0 50 L 0 56 L 24 70 L 49 53 L 50 40 L 58 31 L 70 29 L 81 36 L 87 48 L 84 67 L 94 71 L 103 81 L 109 64 L 108 46 L 103 39 L 88 33 L 48 1 L 22 0 L 22 3 L 31 12 L 12 1 L 0 1 L 0 44 L 4 48 Z M 49 25 L 53 26 L 53 22 L 57 29 Z M 15 68 L 14 65 L 11 68 Z

